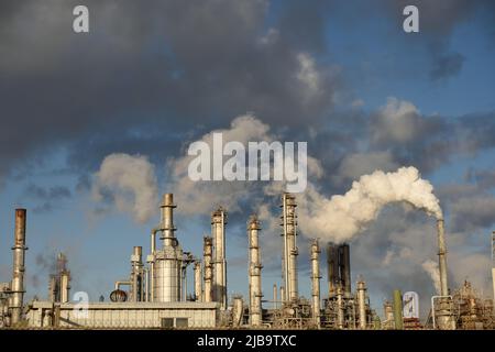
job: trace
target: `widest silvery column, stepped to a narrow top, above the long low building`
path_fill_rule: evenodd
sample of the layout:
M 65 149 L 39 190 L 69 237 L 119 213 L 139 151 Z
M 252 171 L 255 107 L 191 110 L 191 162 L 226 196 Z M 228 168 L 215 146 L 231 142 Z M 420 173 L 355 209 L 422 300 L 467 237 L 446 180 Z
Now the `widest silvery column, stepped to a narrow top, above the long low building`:
M 183 250 L 175 238 L 174 195 L 165 194 L 161 205 L 162 250 L 155 251 L 153 263 L 153 301 L 180 300 Z

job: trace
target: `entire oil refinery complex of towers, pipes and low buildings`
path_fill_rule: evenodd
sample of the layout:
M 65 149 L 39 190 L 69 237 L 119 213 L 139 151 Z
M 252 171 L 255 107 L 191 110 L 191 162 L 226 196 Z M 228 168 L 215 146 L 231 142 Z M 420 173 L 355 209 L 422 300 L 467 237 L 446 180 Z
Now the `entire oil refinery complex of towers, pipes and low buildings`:
M 151 251 L 134 246 L 127 278 L 114 280 L 110 301 L 70 299 L 67 257 L 57 256 L 48 277 L 47 300 L 25 301 L 26 210 L 15 210 L 12 279 L 0 283 L 0 327 L 4 329 L 495 329 L 493 299 L 469 282 L 449 287 L 444 223 L 437 220 L 440 292 L 431 297 L 428 318 L 419 319 L 418 295 L 391 293 L 383 307 L 372 307 L 365 278 L 351 280 L 349 243 L 310 241 L 297 245 L 297 197 L 283 194 L 280 201 L 282 282 L 272 293 L 262 292 L 262 223 L 256 216 L 246 223 L 249 294 L 228 296 L 226 232 L 228 212 L 211 215 L 211 233 L 202 253 L 182 248 L 174 223 L 174 196 L 165 194 L 161 217 L 150 232 Z M 299 294 L 298 255 L 308 251 L 311 268 L 310 298 Z M 495 258 L 495 232 L 492 235 Z M 202 255 L 201 255 L 202 254 Z M 323 257 L 326 256 L 326 257 Z M 321 263 L 327 265 L 322 268 Z M 495 264 L 495 262 L 494 262 Z M 188 285 L 187 274 L 194 283 Z M 322 275 L 326 273 L 327 275 Z M 495 265 L 492 268 L 495 292 Z M 322 280 L 322 278 L 326 278 Z M 354 284 L 354 285 L 353 285 Z

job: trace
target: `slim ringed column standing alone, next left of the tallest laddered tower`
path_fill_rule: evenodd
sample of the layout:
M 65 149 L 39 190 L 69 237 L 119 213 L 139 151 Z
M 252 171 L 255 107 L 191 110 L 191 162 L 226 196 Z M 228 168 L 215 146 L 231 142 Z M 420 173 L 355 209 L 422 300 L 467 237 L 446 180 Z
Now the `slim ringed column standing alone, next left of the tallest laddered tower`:
M 258 231 L 261 230 L 260 221 L 255 216 L 251 217 L 248 223 L 248 237 L 250 242 L 250 324 L 260 326 L 262 322 L 262 302 L 261 292 L 261 260 L 258 245 Z

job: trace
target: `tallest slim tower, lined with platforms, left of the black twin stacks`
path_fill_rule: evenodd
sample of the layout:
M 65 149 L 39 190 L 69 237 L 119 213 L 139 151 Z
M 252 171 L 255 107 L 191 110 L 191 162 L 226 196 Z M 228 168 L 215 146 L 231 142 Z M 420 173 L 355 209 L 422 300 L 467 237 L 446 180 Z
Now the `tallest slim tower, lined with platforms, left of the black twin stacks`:
M 285 297 L 283 300 L 297 300 L 297 220 L 296 220 L 296 199 L 290 194 L 284 194 L 282 196 L 282 227 L 283 227 L 283 273 L 284 273 L 284 287 Z

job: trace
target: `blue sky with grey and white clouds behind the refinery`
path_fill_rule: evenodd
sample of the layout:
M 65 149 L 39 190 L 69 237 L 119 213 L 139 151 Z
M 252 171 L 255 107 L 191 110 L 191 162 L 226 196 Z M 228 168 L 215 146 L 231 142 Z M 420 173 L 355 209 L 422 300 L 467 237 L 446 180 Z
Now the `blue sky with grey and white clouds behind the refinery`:
M 89 8 L 87 34 L 72 31 L 76 4 Z M 419 8 L 419 34 L 402 30 L 406 4 Z M 245 221 L 258 213 L 262 255 L 278 253 L 279 195 L 184 179 L 187 145 L 223 130 L 307 141 L 328 198 L 375 169 L 415 166 L 446 215 L 450 286 L 469 278 L 492 295 L 492 1 L 6 0 L 0 18 L 0 282 L 11 275 L 13 209 L 25 207 L 28 297 L 46 296 L 58 251 L 74 290 L 108 297 L 132 246 L 147 252 L 154 204 L 169 191 L 177 237 L 196 255 L 209 213 L 229 207 L 229 293 L 246 294 Z M 125 198 L 119 187 L 157 193 Z M 298 242 L 306 297 L 311 237 Z M 366 279 L 381 314 L 394 288 L 426 305 L 436 252 L 435 219 L 387 206 L 351 241 L 353 280 Z M 263 256 L 267 299 L 279 260 Z

